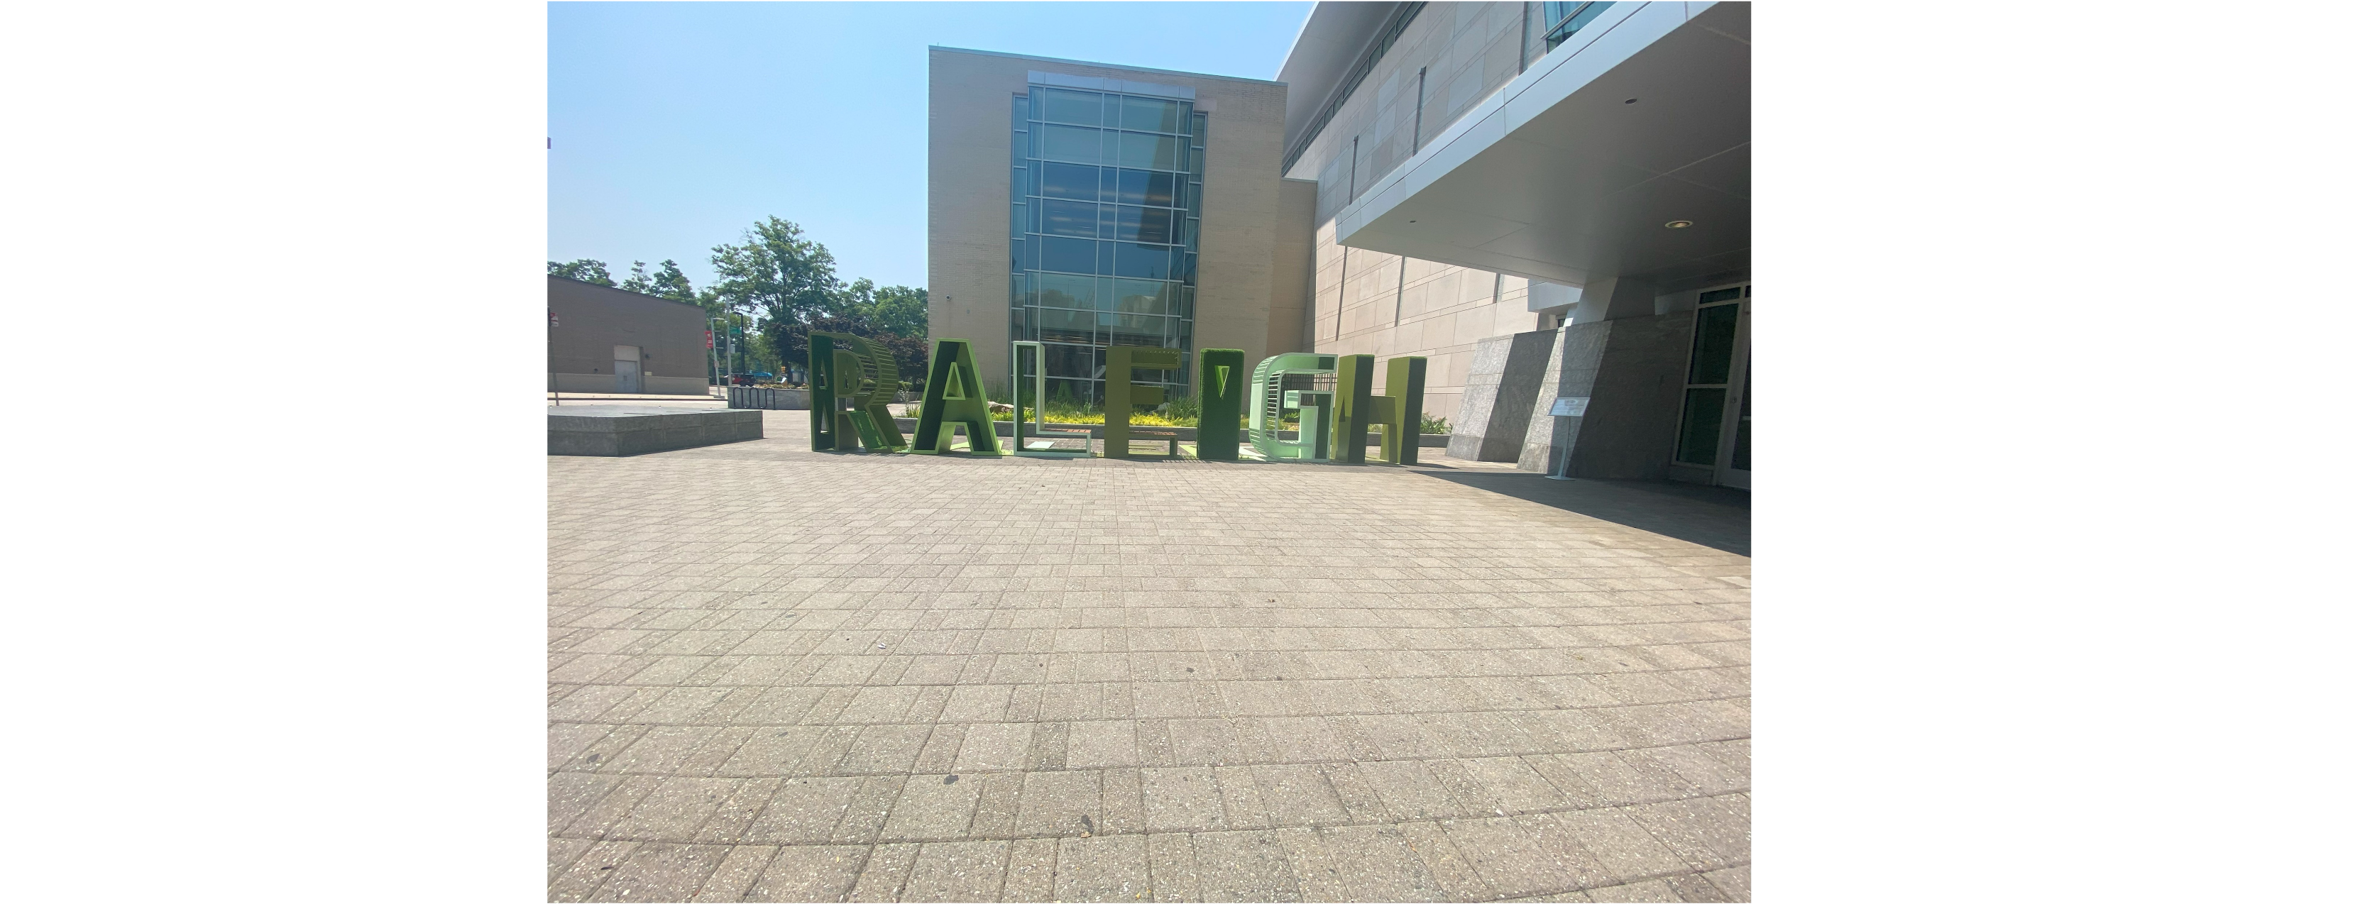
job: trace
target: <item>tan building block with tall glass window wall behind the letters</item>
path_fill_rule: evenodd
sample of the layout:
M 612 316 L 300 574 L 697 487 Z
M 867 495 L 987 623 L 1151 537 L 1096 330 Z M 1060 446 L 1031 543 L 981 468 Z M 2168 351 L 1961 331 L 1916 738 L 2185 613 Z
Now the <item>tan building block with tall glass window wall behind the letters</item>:
M 933 337 L 991 386 L 1013 339 L 1074 398 L 1116 344 L 1302 348 L 1316 186 L 1276 174 L 1283 85 L 949 47 L 930 80 Z

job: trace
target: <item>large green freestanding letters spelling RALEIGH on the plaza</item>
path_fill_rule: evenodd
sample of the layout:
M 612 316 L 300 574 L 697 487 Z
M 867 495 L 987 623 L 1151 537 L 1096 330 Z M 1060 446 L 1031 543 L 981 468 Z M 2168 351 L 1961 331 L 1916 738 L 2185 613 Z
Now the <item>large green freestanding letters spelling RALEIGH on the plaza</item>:
M 1029 393 L 1015 391 L 1013 443 L 1001 445 L 996 424 L 989 419 L 982 372 L 973 363 L 973 341 L 933 339 L 933 360 L 923 379 L 923 412 L 916 417 L 916 436 L 909 440 L 900 436 L 900 426 L 885 407 L 900 388 L 900 367 L 890 351 L 843 332 L 812 332 L 810 450 L 1090 457 L 1093 452 L 1086 450 L 1055 447 L 1055 440 L 1088 440 L 1088 433 L 1050 431 L 1046 412 L 1024 405 L 1024 398 L 1046 398 L 1043 351 L 1036 341 L 1013 344 L 1015 374 L 1029 360 L 1034 386 Z M 1102 457 L 1137 457 L 1140 452 L 1133 452 L 1130 443 L 1168 443 L 1166 454 L 1156 450 L 1147 457 L 1185 457 L 1175 428 L 1130 424 L 1137 412 L 1149 412 L 1168 400 L 1161 386 L 1137 384 L 1135 370 L 1178 370 L 1182 355 L 1178 348 L 1104 348 Z M 1203 348 L 1196 370 L 1201 426 L 1194 431 L 1194 457 L 1203 461 L 1241 459 L 1246 440 L 1241 421 L 1248 405 L 1253 459 L 1366 464 L 1366 445 L 1359 440 L 1368 431 L 1380 431 L 1382 461 L 1415 464 L 1427 365 L 1427 358 L 1392 358 L 1382 393 L 1375 396 L 1373 355 L 1295 351 L 1260 360 L 1246 379 L 1241 348 Z M 1020 377 L 1015 386 L 1020 386 Z M 1024 414 L 1031 414 L 1031 421 Z M 1300 431 L 1291 440 L 1281 438 L 1286 419 L 1300 421 Z M 963 450 L 954 445 L 958 428 L 966 433 Z

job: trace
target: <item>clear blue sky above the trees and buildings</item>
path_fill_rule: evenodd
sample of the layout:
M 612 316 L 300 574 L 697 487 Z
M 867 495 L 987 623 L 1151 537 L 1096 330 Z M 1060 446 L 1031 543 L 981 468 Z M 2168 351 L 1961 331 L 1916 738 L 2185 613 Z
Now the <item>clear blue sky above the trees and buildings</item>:
M 549 5 L 549 259 L 676 259 L 761 217 L 923 285 L 926 45 L 1276 78 L 1312 2 Z

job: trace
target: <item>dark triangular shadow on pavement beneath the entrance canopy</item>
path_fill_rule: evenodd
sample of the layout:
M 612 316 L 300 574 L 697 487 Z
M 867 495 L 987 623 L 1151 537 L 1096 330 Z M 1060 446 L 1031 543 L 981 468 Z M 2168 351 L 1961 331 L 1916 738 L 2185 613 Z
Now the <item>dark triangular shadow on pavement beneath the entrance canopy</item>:
M 1415 473 L 1750 556 L 1747 490 L 1651 480 L 1547 480 L 1528 471 L 1415 468 Z

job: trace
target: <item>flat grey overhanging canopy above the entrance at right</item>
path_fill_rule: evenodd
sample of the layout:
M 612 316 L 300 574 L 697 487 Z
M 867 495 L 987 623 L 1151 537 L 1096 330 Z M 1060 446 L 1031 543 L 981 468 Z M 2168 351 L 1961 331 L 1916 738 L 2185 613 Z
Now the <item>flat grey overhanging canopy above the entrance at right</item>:
M 1750 266 L 1750 2 L 1620 2 L 1342 207 L 1335 231 L 1566 285 Z

